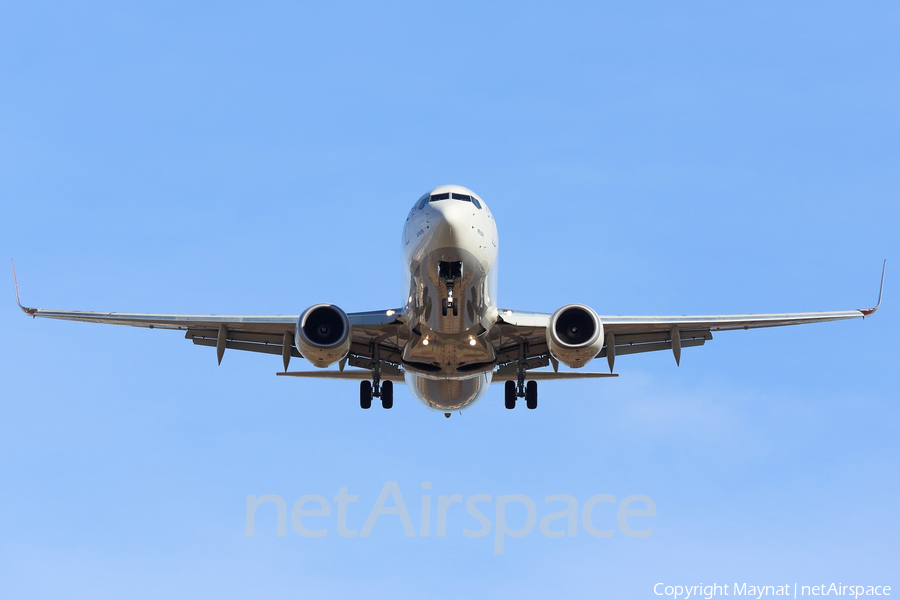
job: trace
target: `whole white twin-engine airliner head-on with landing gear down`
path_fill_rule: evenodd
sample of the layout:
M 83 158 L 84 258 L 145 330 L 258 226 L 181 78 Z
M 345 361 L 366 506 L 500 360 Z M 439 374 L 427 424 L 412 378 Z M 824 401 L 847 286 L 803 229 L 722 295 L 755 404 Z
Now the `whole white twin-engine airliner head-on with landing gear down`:
M 505 382 L 506 408 L 525 399 L 537 407 L 544 379 L 615 377 L 616 356 L 703 345 L 713 331 L 820 323 L 867 317 L 881 305 L 884 267 L 875 308 L 755 315 L 605 316 L 584 304 L 553 314 L 497 307 L 497 226 L 480 196 L 464 187 L 436 187 L 421 198 L 403 227 L 407 295 L 401 308 L 347 314 L 316 304 L 301 315 L 162 315 L 26 308 L 32 317 L 178 329 L 201 346 L 280 354 L 293 377 L 360 382 L 362 408 L 380 398 L 394 403 L 394 382 L 409 387 L 432 410 L 450 416 L 472 406 L 492 381 Z M 885 261 L 886 262 L 886 261 Z M 13 265 L 15 274 L 15 265 Z M 291 357 L 319 371 L 288 372 Z M 565 371 L 605 357 L 609 373 Z M 338 370 L 325 370 L 337 364 Z M 346 365 L 357 367 L 345 370 Z M 553 366 L 553 370 L 539 371 Z

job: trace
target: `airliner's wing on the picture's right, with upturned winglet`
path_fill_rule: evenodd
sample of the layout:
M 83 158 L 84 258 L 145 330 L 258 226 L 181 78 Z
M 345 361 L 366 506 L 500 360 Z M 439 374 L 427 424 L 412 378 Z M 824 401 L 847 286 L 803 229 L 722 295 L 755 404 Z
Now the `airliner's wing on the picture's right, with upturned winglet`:
M 599 315 L 600 322 L 603 324 L 605 345 L 596 358 L 606 357 L 610 372 L 612 372 L 615 357 L 623 354 L 672 350 L 676 362 L 679 362 L 681 348 L 702 346 L 707 340 L 712 339 L 713 331 L 781 327 L 865 318 L 874 314 L 881 306 L 883 290 L 884 268 L 881 271 L 881 287 L 875 308 L 744 315 Z M 540 368 L 553 362 L 546 340 L 547 325 L 550 323 L 551 316 L 545 313 L 500 311 L 498 325 L 501 336 L 497 354 L 501 367 L 498 376 L 511 376 L 515 373 L 515 361 L 521 352 L 522 344 L 525 345 L 526 369 Z

